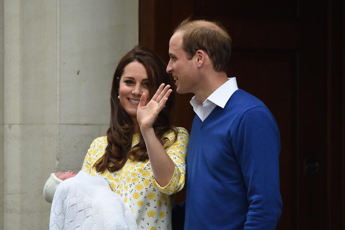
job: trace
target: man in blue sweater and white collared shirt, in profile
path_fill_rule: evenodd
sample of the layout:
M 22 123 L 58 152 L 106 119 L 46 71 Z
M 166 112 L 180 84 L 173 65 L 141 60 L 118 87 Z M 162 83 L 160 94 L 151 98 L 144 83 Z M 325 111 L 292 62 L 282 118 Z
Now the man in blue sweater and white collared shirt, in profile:
M 196 116 L 187 152 L 186 201 L 173 228 L 275 229 L 282 211 L 277 124 L 256 97 L 228 79 L 231 39 L 220 25 L 186 19 L 169 42 L 167 72 L 192 92 Z

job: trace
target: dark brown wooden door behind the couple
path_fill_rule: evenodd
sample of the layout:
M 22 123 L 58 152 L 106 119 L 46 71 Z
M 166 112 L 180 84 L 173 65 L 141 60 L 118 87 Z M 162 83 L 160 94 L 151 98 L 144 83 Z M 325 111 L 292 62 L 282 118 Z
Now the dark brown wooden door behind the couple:
M 277 229 L 345 229 L 342 1 L 139 3 L 139 43 L 166 62 L 172 31 L 189 15 L 220 21 L 228 30 L 228 76 L 266 104 L 280 130 L 283 212 Z M 175 122 L 190 131 L 193 94 L 176 96 Z M 182 192 L 177 201 L 183 198 Z

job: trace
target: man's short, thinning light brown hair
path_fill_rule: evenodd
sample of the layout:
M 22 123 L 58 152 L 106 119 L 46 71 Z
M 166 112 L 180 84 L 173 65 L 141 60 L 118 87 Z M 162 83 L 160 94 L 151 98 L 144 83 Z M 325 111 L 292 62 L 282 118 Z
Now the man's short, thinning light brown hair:
M 182 46 L 191 60 L 197 50 L 210 57 L 215 71 L 227 71 L 231 54 L 231 38 L 219 22 L 185 19 L 174 32 L 182 32 Z

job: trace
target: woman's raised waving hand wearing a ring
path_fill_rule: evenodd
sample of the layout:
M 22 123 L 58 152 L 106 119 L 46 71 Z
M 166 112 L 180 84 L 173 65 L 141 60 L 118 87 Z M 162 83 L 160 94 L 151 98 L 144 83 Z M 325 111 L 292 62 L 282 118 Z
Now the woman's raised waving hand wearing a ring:
M 172 92 L 170 85 L 164 87 L 162 83 L 152 99 L 145 105 L 147 95 L 142 93 L 137 110 L 137 120 L 141 132 L 151 129 L 158 114 L 164 108 L 170 93 Z

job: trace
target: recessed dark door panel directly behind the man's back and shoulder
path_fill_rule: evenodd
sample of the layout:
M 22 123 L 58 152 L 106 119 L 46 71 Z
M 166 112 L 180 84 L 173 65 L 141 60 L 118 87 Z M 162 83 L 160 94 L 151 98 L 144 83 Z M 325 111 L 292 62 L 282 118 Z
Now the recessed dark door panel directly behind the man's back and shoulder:
M 296 179 L 291 170 L 296 167 L 295 126 L 297 53 L 293 51 L 234 51 L 228 76 L 236 76 L 239 88 L 250 92 L 269 108 L 276 119 L 281 139 L 280 151 L 280 193 L 283 199 L 283 213 L 279 224 L 284 229 L 293 229 L 293 210 L 296 202 Z M 289 201 L 289 202 L 287 202 Z M 278 228 L 279 229 L 279 228 Z

